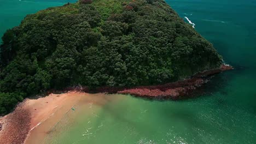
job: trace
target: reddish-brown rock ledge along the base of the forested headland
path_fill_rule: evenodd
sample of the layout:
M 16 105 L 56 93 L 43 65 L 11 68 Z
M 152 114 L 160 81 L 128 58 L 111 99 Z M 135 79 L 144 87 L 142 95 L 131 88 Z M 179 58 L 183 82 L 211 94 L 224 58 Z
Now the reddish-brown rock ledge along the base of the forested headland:
M 90 91 L 86 87 L 70 87 L 67 91 L 84 91 L 87 93 L 119 93 L 119 94 L 131 94 L 138 97 L 146 98 L 171 98 L 179 99 L 186 95 L 189 95 L 196 88 L 201 87 L 203 83 L 208 81 L 208 78 L 212 75 L 222 73 L 222 71 L 233 69 L 230 65 L 223 64 L 219 69 L 206 70 L 201 73 L 197 73 L 191 77 L 191 79 L 177 81 L 172 83 L 166 83 L 164 85 L 155 86 L 138 86 L 131 88 L 115 88 L 115 87 L 101 87 L 94 91 Z

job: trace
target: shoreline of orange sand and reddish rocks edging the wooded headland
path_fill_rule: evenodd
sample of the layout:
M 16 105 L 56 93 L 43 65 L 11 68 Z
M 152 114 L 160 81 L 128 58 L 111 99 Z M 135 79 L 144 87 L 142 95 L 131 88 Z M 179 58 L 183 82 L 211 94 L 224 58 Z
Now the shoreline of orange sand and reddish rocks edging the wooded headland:
M 97 93 L 131 94 L 146 98 L 170 98 L 179 99 L 185 97 L 196 88 L 201 87 L 208 81 L 208 77 L 230 70 L 230 65 L 222 65 L 219 69 L 207 70 L 194 75 L 191 79 L 166 83 L 165 85 L 140 86 L 133 88 L 100 88 Z M 69 88 L 70 89 L 70 88 Z M 73 88 L 73 91 L 66 91 L 63 94 L 49 94 L 38 99 L 25 99 L 16 106 L 16 109 L 8 115 L 0 118 L 2 129 L 0 130 L 0 143 L 35 143 L 43 140 L 51 128 L 68 112 L 82 96 L 86 100 L 93 99 L 88 94 L 88 88 Z M 104 94 L 102 94 L 104 97 Z M 83 97 L 84 98 L 84 97 Z M 105 103 L 106 101 L 103 101 Z M 50 120 L 49 120 L 50 119 Z M 46 123 L 45 121 L 48 120 Z M 38 125 L 44 124 L 43 129 L 35 129 Z M 35 132 L 36 131 L 36 132 Z M 34 132 L 34 133 L 32 133 Z M 37 137 L 37 140 L 31 139 Z

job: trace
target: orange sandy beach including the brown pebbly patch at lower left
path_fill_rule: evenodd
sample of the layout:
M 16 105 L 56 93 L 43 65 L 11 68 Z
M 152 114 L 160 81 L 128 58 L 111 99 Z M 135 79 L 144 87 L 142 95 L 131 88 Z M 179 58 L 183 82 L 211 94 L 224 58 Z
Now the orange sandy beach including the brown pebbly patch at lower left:
M 55 123 L 78 103 L 83 95 L 86 93 L 68 92 L 24 100 L 14 112 L 0 118 L 2 123 L 0 143 L 34 143 L 31 137 L 36 137 L 37 141 L 43 139 Z M 46 127 L 38 127 L 41 124 Z

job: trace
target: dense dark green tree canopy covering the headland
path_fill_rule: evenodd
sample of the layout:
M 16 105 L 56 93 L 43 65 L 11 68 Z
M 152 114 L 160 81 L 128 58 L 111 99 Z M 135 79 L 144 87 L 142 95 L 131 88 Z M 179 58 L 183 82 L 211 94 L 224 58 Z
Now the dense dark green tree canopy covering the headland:
M 154 85 L 222 64 L 162 0 L 68 3 L 27 15 L 2 40 L 1 113 L 51 88 Z

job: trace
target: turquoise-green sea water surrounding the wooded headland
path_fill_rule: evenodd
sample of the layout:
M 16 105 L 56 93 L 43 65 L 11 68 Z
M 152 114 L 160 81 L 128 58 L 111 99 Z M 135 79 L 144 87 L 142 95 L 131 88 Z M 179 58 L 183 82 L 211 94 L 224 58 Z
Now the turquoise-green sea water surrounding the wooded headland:
M 67 2 L 0 0 L 0 35 L 26 14 Z M 166 2 L 235 70 L 214 76 L 191 99 L 106 95 L 103 105 L 81 102 L 42 143 L 256 143 L 256 0 Z

